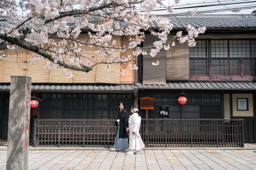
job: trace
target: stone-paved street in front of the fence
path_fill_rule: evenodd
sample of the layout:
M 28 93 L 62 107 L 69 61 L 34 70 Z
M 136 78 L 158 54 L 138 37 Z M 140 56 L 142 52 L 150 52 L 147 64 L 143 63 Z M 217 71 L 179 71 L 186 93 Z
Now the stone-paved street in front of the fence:
M 28 169 L 162 169 L 162 170 L 256 170 L 254 150 L 143 150 L 126 155 L 109 150 L 29 150 Z M 5 170 L 6 150 L 0 151 Z

